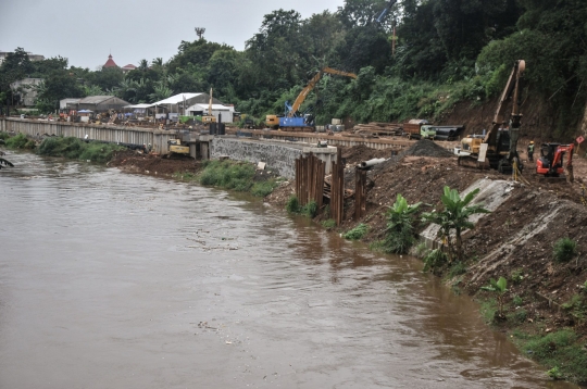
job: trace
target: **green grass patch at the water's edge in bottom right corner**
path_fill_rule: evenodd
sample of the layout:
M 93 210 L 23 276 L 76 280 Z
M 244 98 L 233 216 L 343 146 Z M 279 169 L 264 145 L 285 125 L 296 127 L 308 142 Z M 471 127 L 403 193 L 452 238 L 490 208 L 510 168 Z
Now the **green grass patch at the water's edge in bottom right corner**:
M 555 368 L 558 378 L 574 382 L 587 381 L 587 349 L 578 342 L 572 329 L 561 329 L 546 335 L 514 332 L 515 342 L 534 360 Z

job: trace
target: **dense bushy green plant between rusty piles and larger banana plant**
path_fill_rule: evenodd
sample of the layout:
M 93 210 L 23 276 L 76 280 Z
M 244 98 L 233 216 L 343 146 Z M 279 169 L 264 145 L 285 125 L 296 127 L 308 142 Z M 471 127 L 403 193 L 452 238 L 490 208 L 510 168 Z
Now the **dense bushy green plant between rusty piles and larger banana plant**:
M 394 206 L 386 212 L 387 228 L 384 241 L 386 252 L 404 254 L 414 244 L 414 214 L 422 203 L 409 205 L 408 201 L 398 193 Z

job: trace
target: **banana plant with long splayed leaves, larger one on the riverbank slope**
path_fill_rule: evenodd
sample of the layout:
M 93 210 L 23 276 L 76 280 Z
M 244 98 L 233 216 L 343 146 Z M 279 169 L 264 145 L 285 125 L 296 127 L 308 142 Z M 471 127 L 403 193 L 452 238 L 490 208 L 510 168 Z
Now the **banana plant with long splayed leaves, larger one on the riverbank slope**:
M 483 204 L 469 205 L 477 196 L 479 189 L 469 192 L 464 199 L 461 199 L 457 189 L 445 187 L 445 193 L 440 197 L 442 201 L 442 211 L 425 212 L 422 214 L 424 221 L 437 224 L 440 228 L 438 237 L 448 246 L 449 261 L 454 256 L 461 261 L 463 256 L 462 233 L 475 227 L 469 221 L 469 217 L 476 213 L 489 213 L 483 208 Z M 454 230 L 454 243 L 452 242 L 451 231 Z

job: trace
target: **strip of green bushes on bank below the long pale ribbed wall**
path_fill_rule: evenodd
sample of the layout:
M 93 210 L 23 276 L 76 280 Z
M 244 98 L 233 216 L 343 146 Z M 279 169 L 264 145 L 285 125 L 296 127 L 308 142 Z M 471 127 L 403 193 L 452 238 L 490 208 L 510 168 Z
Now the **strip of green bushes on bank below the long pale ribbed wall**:
M 85 142 L 74 137 L 45 138 L 38 148 L 40 155 L 64 156 L 72 160 L 107 163 L 115 151 L 124 150 L 114 143 Z

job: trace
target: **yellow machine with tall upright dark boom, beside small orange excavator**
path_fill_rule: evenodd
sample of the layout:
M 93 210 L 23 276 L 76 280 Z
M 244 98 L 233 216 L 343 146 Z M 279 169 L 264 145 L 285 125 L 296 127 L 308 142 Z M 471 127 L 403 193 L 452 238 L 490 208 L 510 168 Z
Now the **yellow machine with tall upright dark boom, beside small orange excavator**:
M 500 173 L 522 171 L 523 165 L 517 154 L 517 139 L 522 121 L 520 113 L 522 105 L 521 78 L 525 68 L 526 62 L 524 60 L 515 61 L 508 84 L 505 84 L 499 99 L 491 128 L 485 136 L 470 135 L 461 140 L 461 147 L 455 149 L 459 165 L 467 165 L 472 162 L 477 167 L 489 165 Z M 512 100 L 513 104 L 508 125 L 503 114 L 509 100 Z

